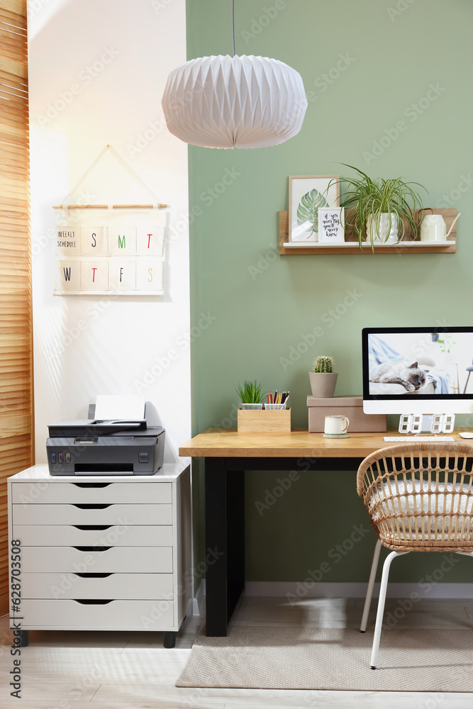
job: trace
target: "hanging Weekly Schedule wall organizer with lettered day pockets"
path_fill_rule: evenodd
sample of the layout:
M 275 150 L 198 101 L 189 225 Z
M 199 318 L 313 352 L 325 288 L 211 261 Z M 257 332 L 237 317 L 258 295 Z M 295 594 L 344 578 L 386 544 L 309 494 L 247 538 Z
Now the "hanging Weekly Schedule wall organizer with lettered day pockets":
M 106 152 L 140 184 L 152 203 L 67 204 Z M 160 210 L 166 207 L 106 145 L 60 206 L 54 207 L 59 210 L 55 295 L 164 294 L 166 213 Z

